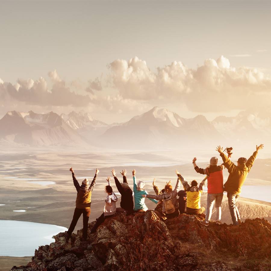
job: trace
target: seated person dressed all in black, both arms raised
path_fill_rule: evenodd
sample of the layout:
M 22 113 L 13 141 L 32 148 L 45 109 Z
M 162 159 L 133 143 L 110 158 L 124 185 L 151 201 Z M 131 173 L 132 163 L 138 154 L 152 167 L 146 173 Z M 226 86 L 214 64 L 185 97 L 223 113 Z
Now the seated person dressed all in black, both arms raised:
M 118 178 L 116 177 L 116 171 L 114 169 L 112 169 L 111 172 L 115 179 L 117 189 L 121 195 L 120 207 L 126 210 L 126 216 L 129 216 L 131 213 L 133 213 L 134 201 L 132 189 L 129 187 L 126 179 L 127 170 L 122 170 L 122 172 L 120 173 L 123 176 L 123 183 L 119 182 Z

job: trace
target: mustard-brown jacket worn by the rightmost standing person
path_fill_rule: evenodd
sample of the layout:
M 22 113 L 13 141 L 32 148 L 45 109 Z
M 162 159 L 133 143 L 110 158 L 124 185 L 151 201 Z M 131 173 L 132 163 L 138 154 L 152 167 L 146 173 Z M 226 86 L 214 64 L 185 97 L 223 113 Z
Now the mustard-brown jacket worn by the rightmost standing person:
M 228 180 L 224 184 L 224 191 L 231 194 L 241 193 L 241 187 L 244 184 L 248 173 L 254 164 L 254 160 L 256 159 L 257 154 L 258 151 L 254 151 L 251 157 L 249 157 L 247 163 L 240 164 L 239 166 L 236 166 L 234 163 L 232 163 L 232 161 L 223 152 L 220 154 L 224 165 L 229 172 Z

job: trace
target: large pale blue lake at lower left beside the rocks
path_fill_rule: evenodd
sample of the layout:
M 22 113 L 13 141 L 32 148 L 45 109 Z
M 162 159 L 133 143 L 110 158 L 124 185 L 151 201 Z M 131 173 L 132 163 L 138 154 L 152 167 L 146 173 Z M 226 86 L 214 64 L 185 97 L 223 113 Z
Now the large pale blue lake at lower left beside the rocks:
M 67 228 L 26 221 L 0 220 L 0 256 L 33 256 L 39 246 L 55 242 L 53 235 Z

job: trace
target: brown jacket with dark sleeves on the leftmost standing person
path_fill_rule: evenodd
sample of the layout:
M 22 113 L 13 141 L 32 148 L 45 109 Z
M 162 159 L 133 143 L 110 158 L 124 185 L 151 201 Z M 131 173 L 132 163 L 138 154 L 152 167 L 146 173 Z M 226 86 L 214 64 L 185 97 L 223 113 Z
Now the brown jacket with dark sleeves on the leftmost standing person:
M 97 175 L 95 174 L 91 182 L 91 185 L 86 187 L 86 185 L 79 185 L 78 181 L 76 180 L 75 174 L 74 173 L 72 174 L 73 174 L 73 184 L 77 191 L 76 208 L 79 209 L 90 208 L 91 193 L 96 184 Z

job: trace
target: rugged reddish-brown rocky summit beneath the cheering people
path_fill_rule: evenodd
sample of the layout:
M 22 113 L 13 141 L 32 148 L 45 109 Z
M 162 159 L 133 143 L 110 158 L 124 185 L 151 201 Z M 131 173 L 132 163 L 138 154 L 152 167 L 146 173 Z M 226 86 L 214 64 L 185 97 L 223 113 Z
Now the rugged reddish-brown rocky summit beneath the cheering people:
M 39 247 L 21 271 L 83 270 L 270 270 L 271 225 L 246 220 L 237 230 L 228 225 L 199 223 L 204 215 L 180 214 L 173 219 L 153 210 L 125 216 L 117 213 L 81 241 L 82 230 L 68 242 Z M 89 223 L 89 231 L 95 222 Z

